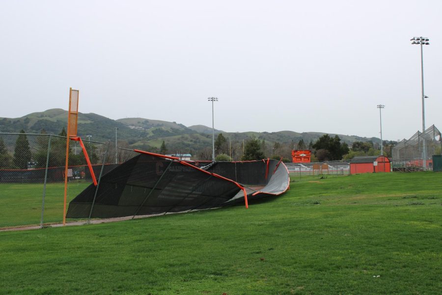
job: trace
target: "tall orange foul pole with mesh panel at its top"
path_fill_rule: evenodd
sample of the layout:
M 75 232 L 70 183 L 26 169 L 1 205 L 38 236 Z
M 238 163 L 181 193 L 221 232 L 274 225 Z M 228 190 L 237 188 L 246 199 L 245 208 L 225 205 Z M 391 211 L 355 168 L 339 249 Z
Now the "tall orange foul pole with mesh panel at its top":
M 69 140 L 71 136 L 77 136 L 79 90 L 69 89 L 68 126 L 66 134 L 66 164 L 64 167 L 64 200 L 63 200 L 63 225 L 66 225 L 66 196 L 67 196 L 67 172 L 69 164 Z

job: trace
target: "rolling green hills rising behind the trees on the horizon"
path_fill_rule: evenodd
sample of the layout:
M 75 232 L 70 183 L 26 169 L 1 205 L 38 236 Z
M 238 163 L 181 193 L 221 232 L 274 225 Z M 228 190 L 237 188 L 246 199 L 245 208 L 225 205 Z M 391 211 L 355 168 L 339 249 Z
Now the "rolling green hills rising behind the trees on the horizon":
M 45 129 L 47 133 L 59 134 L 61 129 L 66 128 L 67 111 L 62 109 L 51 109 L 44 112 L 28 114 L 21 118 L 0 118 L 0 132 L 20 132 L 21 129 L 27 133 L 40 133 Z M 160 148 L 163 141 L 166 142 L 170 151 L 189 152 L 211 148 L 212 128 L 204 125 L 193 125 L 186 127 L 176 122 L 153 120 L 146 118 L 122 118 L 112 120 L 97 114 L 79 113 L 78 133 L 81 137 L 92 135 L 92 140 L 107 142 L 115 139 L 115 127 L 119 141 L 126 141 L 131 147 L 156 150 Z M 264 140 L 268 145 L 279 142 L 285 145 L 293 145 L 301 139 L 305 144 L 315 142 L 325 133 L 322 132 L 224 132 L 222 133 L 230 142 L 237 145 L 250 137 Z M 335 134 L 330 134 L 334 136 Z M 342 142 L 349 145 L 355 141 L 379 141 L 378 138 L 365 138 L 356 135 L 338 134 Z M 232 144 L 233 145 L 233 144 Z

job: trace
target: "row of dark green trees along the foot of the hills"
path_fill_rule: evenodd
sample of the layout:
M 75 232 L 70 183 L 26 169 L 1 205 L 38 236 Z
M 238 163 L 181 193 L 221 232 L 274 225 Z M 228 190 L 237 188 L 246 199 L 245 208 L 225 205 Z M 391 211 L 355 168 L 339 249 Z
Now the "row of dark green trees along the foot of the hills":
M 46 134 L 46 131 L 41 130 L 41 134 Z M 59 136 L 66 136 L 66 131 L 63 128 L 58 134 Z M 29 142 L 25 131 L 22 129 L 18 135 L 14 153 L 8 152 L 5 143 L 0 138 L 0 169 L 28 169 L 28 162 L 37 162 L 33 168 L 43 168 L 46 165 L 46 157 L 48 152 L 49 136 L 37 136 L 35 147 L 31 151 Z M 89 158 L 92 163 L 98 162 L 96 154 L 96 147 L 88 145 L 85 142 L 86 149 L 89 153 Z M 384 142 L 384 155 L 391 156 L 391 149 L 394 143 L 387 144 Z M 69 165 L 84 165 L 86 163 L 82 152 L 74 152 L 73 145 L 69 149 Z M 129 148 L 129 144 L 124 141 L 118 142 L 119 147 Z M 114 161 L 115 151 L 112 149 L 108 153 L 106 161 L 111 163 Z M 215 140 L 215 155 L 217 161 L 237 161 L 237 160 L 260 160 L 264 158 L 282 159 L 284 162 L 291 162 L 292 149 L 310 149 L 312 150 L 311 160 L 314 161 L 335 161 L 335 160 L 349 160 L 355 156 L 363 155 L 379 155 L 379 144 L 373 142 L 354 142 L 349 147 L 347 143 L 342 143 L 339 136 L 331 137 L 329 134 L 324 134 L 316 142 L 310 141 L 308 144 L 304 139 L 298 142 L 291 143 L 268 143 L 263 138 L 250 137 L 246 140 L 231 140 L 226 138 L 222 133 L 218 134 Z M 167 154 L 168 148 L 163 140 L 160 148 L 145 147 L 145 150 Z M 177 151 L 178 153 L 193 154 L 194 159 L 198 160 L 212 160 L 212 147 L 205 147 L 199 150 Z M 60 167 L 65 165 L 66 153 L 66 139 L 61 137 L 52 137 L 51 150 L 49 158 L 49 167 Z M 112 158 L 113 156 L 113 158 Z M 118 156 L 118 162 L 123 162 L 122 155 Z

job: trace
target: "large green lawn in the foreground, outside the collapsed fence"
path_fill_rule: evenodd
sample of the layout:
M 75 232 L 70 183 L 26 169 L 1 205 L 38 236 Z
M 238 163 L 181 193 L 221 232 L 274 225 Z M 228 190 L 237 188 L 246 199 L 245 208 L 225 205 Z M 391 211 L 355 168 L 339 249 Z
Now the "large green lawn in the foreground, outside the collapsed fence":
M 0 233 L 2 294 L 440 294 L 442 174 L 304 177 L 278 198 Z

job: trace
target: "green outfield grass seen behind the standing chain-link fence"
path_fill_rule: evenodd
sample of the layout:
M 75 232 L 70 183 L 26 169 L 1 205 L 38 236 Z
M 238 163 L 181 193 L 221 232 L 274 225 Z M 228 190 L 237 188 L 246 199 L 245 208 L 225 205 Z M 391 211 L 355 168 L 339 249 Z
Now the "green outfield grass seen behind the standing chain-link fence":
M 90 182 L 69 182 L 67 203 Z M 0 228 L 39 225 L 43 197 L 42 183 L 0 184 Z M 63 221 L 64 183 L 46 185 L 44 223 Z

